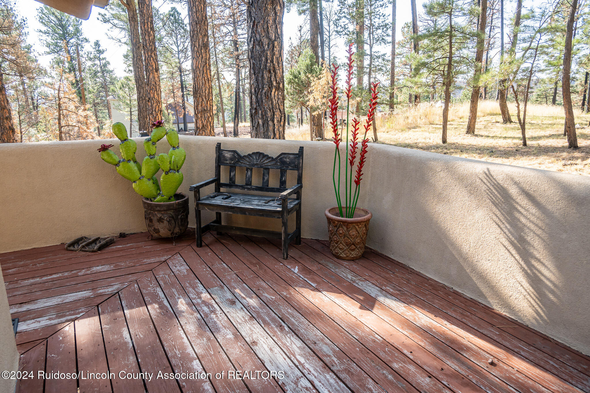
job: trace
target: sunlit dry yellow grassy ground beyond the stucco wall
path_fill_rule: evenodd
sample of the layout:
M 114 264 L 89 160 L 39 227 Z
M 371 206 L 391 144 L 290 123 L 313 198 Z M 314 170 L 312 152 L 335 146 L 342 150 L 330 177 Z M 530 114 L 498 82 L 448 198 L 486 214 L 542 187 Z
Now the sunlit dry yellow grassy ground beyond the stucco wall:
M 494 163 L 516 165 L 590 176 L 590 114 L 575 112 L 578 128 L 577 149 L 568 149 L 563 136 L 563 108 L 529 105 L 526 120 L 527 146 L 522 146 L 516 108 L 510 106 L 512 124 L 502 124 L 495 101 L 483 101 L 478 108 L 475 135 L 465 133 L 469 104 L 451 107 L 447 143 L 441 143 L 441 108 L 422 104 L 412 110 L 396 110 L 394 115 L 379 118 L 379 143 L 415 148 L 450 156 L 473 158 Z M 231 134 L 231 124 L 227 126 Z M 241 123 L 240 137 L 250 137 L 249 124 Z M 223 136 L 222 128 L 215 128 Z M 309 140 L 309 126 L 287 127 L 286 139 Z M 327 135 L 326 135 L 327 136 Z M 329 137 L 329 136 L 327 136 Z

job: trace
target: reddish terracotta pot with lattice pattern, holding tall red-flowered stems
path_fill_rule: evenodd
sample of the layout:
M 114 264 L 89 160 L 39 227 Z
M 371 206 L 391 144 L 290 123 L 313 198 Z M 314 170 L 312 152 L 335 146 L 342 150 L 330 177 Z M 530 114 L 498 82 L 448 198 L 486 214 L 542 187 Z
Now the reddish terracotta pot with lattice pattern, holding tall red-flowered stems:
M 326 209 L 330 251 L 338 259 L 359 259 L 365 252 L 369 220 L 373 214 L 356 207 L 352 219 L 340 217 L 338 207 Z

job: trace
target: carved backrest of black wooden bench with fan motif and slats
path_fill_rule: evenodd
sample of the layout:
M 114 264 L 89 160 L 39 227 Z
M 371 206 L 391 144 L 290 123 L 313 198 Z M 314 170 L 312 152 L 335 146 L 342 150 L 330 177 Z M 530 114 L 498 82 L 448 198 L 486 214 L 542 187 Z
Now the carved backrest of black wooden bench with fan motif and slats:
M 227 183 L 221 182 L 221 167 L 230 167 L 230 176 Z M 245 167 L 246 176 L 244 184 L 235 182 L 235 167 Z M 254 168 L 262 169 L 262 184 L 260 186 L 252 185 L 252 170 Z M 278 187 L 269 187 L 268 178 L 270 170 L 280 171 Z M 236 150 L 221 148 L 221 142 L 215 146 L 215 177 L 218 179 L 218 185 L 215 186 L 217 192 L 222 189 L 251 190 L 270 193 L 281 193 L 288 189 L 287 171 L 297 171 L 297 184 L 303 180 L 303 146 L 299 147 L 297 153 L 281 153 L 276 157 L 268 154 L 254 151 L 254 153 L 242 156 Z

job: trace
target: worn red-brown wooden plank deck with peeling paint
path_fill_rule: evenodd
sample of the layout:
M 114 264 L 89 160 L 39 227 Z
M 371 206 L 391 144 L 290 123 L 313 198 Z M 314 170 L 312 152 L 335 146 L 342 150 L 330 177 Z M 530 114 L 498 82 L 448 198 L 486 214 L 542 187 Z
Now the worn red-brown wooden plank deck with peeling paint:
M 0 255 L 34 372 L 17 391 L 590 392 L 588 356 L 379 253 L 337 260 L 304 239 L 284 261 L 274 240 L 204 242 L 139 233 L 100 253 Z

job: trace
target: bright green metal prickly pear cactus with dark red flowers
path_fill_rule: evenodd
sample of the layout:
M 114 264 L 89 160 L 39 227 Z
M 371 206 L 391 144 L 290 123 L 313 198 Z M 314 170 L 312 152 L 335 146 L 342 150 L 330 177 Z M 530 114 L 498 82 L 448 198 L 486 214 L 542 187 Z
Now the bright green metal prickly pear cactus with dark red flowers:
M 178 133 L 174 130 L 166 131 L 162 126 L 162 120 L 152 123 L 152 135 L 143 141 L 147 156 L 140 165 L 136 158 L 137 144 L 127 137 L 127 129 L 123 123 L 113 124 L 113 133 L 121 143 L 119 150 L 121 158 L 109 150 L 113 145 L 103 144 L 98 149 L 100 158 L 106 163 L 116 167 L 117 173 L 125 179 L 133 182 L 133 190 L 152 202 L 173 202 L 174 194 L 182 184 L 181 167 L 186 158 L 186 151 L 178 145 Z M 168 154 L 162 153 L 156 156 L 156 143 L 166 137 L 171 149 Z M 160 182 L 156 173 L 162 169 L 164 172 Z

